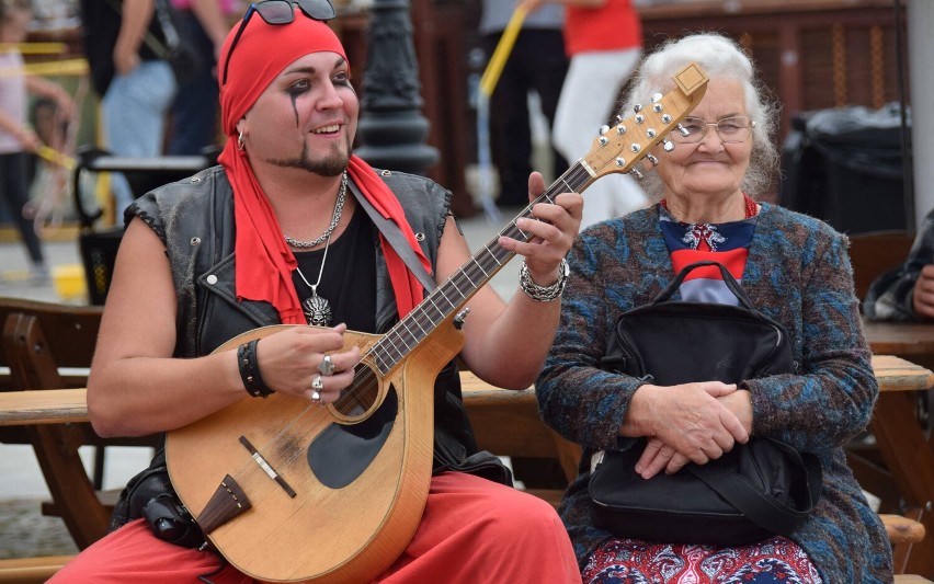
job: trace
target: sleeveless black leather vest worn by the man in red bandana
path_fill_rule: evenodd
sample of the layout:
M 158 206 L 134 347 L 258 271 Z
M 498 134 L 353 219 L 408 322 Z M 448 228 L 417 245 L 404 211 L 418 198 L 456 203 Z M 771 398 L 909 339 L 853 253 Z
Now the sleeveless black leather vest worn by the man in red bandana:
M 379 171 L 378 171 L 379 172 Z M 451 193 L 421 176 L 381 171 L 383 180 L 396 194 L 406 217 L 431 262 L 448 215 Z M 358 190 L 351 185 L 357 198 Z M 176 357 L 207 355 L 234 336 L 258 327 L 278 324 L 275 308 L 263 301 L 238 301 L 234 291 L 236 241 L 234 193 L 221 167 L 206 169 L 189 179 L 157 188 L 136 201 L 125 221 L 143 219 L 166 244 L 179 299 Z M 376 254 L 377 332 L 398 321 L 396 300 L 379 238 L 374 234 Z M 488 453 L 477 453 L 470 423 L 464 411 L 460 378 L 455 362 L 438 374 L 434 387 L 434 469 L 464 470 L 511 484 L 508 469 Z M 115 513 L 114 527 L 139 516 L 134 486 L 139 478 L 151 478 L 164 469 L 159 448 L 149 469 L 127 484 L 122 515 Z M 168 479 L 168 476 L 166 476 Z M 150 481 L 152 482 L 152 481 Z M 158 481 L 157 481 L 158 482 Z M 168 480 L 162 481 L 171 489 Z M 130 500 L 126 508 L 126 500 Z M 145 499 L 149 499 L 149 493 Z

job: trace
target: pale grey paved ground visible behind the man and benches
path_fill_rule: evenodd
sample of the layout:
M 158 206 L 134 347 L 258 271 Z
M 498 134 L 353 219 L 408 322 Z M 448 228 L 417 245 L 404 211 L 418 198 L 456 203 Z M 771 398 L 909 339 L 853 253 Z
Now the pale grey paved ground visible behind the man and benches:
M 520 210 L 504 209 L 500 225 L 491 225 L 482 214 L 463 221 L 470 248 L 479 250 L 492 241 L 497 231 L 514 219 Z M 53 274 L 80 265 L 76 241 L 47 241 L 44 245 Z M 493 287 L 504 298 L 510 298 L 516 289 L 519 265 L 519 261 L 510 262 L 493 277 Z M 81 296 L 62 298 L 52 280 L 30 279 L 25 251 L 16 242 L 0 243 L 0 296 L 76 304 L 86 301 Z M 90 447 L 83 450 L 82 457 L 90 465 L 93 451 Z M 106 455 L 104 488 L 122 486 L 146 466 L 150 456 L 146 448 L 111 448 Z M 77 551 L 64 522 L 39 514 L 39 503 L 47 497 L 48 491 L 32 449 L 0 444 L 0 559 Z

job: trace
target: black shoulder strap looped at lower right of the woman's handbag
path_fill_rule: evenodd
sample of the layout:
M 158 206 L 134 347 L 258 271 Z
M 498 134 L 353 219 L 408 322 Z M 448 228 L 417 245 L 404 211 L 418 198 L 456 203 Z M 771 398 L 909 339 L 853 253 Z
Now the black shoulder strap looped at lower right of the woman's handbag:
M 796 509 L 774 497 L 760 493 L 749 480 L 741 474 L 724 474 L 709 465 L 688 465 L 687 470 L 704 481 L 707 486 L 719 493 L 758 526 L 783 536 L 790 535 L 800 520 L 807 517 L 820 499 L 823 484 L 820 460 L 810 454 L 802 454 L 785 443 L 772 442 L 785 453 L 795 466 L 805 472 L 808 501 L 802 508 Z

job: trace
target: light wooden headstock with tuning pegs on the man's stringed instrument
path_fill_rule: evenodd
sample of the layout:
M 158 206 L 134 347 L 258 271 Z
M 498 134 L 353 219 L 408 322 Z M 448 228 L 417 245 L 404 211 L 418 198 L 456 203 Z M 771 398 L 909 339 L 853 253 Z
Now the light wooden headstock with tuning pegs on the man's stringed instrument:
M 648 157 L 652 163 L 658 162 L 649 154 L 649 150 L 662 141 L 665 151 L 674 148 L 668 135 L 700 103 L 707 91 L 707 73 L 696 62 L 692 62 L 675 73 L 673 90 L 665 95 L 656 93 L 651 105 L 641 107 L 617 125 L 603 126 L 590 151 L 580 160 L 590 175 L 580 191 L 614 172 L 631 171 L 638 174 L 634 165 L 643 158 Z

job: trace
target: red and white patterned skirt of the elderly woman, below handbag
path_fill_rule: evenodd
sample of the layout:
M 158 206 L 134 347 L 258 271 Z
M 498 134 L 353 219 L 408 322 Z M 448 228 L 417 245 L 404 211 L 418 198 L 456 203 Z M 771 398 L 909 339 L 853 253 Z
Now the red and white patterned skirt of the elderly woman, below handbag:
M 611 539 L 590 557 L 584 584 L 821 584 L 797 543 L 774 537 L 750 546 L 719 548 Z

